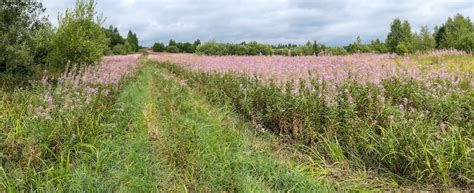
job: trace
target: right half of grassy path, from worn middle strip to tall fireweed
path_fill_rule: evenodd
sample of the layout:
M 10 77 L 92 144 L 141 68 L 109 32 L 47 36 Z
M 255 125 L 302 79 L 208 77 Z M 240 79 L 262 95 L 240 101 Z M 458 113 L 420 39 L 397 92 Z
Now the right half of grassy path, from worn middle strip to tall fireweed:
M 159 157 L 176 170 L 175 191 L 326 192 L 328 187 L 256 147 L 248 124 L 155 64 L 145 69 L 144 110 Z M 263 143 L 263 144 L 262 144 Z

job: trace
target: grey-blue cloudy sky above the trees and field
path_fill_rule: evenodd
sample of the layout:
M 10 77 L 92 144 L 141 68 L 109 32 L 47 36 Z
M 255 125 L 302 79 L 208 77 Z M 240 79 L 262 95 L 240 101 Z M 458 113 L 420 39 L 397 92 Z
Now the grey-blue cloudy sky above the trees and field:
M 75 0 L 42 0 L 50 20 L 74 6 Z M 140 43 L 217 40 L 299 43 L 318 40 L 339 46 L 385 39 L 394 18 L 412 29 L 431 29 L 449 16 L 474 18 L 474 0 L 98 0 L 105 26 L 122 34 L 131 29 Z

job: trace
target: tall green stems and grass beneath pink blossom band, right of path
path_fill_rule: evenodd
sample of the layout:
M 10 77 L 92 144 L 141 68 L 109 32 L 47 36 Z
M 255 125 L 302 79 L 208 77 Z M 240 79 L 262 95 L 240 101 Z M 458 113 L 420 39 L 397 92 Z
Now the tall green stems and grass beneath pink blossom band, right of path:
M 349 76 L 338 84 L 305 77 L 281 84 L 161 65 L 210 101 L 231 103 L 264 129 L 316 149 L 329 164 L 369 168 L 400 184 L 473 186 L 472 76 L 392 76 L 377 82 Z

